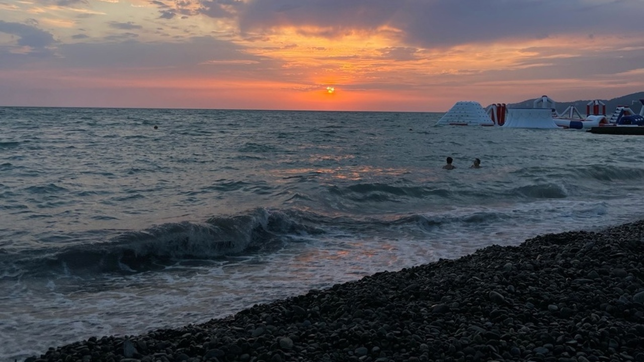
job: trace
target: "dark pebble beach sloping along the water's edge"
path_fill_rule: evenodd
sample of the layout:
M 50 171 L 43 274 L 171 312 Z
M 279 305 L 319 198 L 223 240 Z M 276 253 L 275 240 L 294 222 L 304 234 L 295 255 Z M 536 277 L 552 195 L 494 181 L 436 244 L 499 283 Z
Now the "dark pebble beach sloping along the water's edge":
M 641 361 L 644 220 L 379 272 L 35 361 Z

